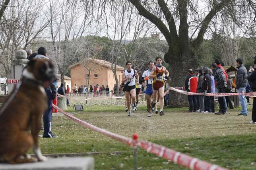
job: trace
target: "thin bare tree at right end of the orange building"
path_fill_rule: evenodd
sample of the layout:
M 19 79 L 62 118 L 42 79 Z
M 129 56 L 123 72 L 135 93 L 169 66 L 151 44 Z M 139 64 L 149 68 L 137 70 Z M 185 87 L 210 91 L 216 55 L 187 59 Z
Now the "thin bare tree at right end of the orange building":
M 120 60 L 124 59 L 133 63 L 135 61 L 138 48 L 133 48 L 135 42 L 139 44 L 137 39 L 144 37 L 150 30 L 150 25 L 147 24 L 147 20 L 138 15 L 138 12 L 134 11 L 135 8 L 128 1 L 107 1 L 108 8 L 105 8 L 103 14 L 106 22 L 107 36 L 111 39 L 112 45 L 110 50 L 110 62 L 112 63 L 112 72 L 117 86 L 120 84 L 116 74 L 116 65 Z M 107 11 L 110 11 L 108 13 Z M 131 39 L 131 40 L 128 40 Z M 126 45 L 130 44 L 130 50 L 126 50 Z M 133 50 L 133 51 L 131 51 Z M 116 94 L 119 94 L 117 88 Z

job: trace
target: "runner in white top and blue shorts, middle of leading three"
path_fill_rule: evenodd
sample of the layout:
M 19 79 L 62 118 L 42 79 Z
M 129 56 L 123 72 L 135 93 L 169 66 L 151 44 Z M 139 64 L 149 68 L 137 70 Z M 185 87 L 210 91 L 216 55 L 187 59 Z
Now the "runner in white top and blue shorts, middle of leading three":
M 148 70 L 144 71 L 144 73 L 142 74 L 142 79 L 141 81 L 144 82 L 146 81 L 146 100 L 147 100 L 147 112 L 148 115 L 147 117 L 151 117 L 152 113 L 150 111 L 151 109 L 151 98 L 152 98 L 152 94 L 153 94 L 153 90 L 152 90 L 152 84 L 153 84 L 153 78 L 149 78 L 149 75 L 151 73 L 151 70 L 153 69 L 155 63 L 153 61 L 149 61 L 148 62 Z M 157 110 L 156 110 L 157 111 Z M 158 113 L 158 111 L 157 111 Z

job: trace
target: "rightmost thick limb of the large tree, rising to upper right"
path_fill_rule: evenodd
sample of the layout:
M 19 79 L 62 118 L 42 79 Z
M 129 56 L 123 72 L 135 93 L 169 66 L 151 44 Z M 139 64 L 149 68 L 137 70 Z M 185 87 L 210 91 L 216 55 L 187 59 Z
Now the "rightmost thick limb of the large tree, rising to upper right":
M 204 21 L 202 22 L 202 27 L 198 32 L 197 38 L 192 42 L 194 48 L 198 48 L 202 44 L 204 40 L 204 34 L 206 33 L 207 28 L 209 27 L 211 19 L 213 19 L 216 13 L 218 13 L 223 7 L 227 6 L 229 2 L 232 2 L 232 0 L 222 0 L 219 4 L 213 4 L 211 11 L 209 11 L 209 13 L 204 18 Z

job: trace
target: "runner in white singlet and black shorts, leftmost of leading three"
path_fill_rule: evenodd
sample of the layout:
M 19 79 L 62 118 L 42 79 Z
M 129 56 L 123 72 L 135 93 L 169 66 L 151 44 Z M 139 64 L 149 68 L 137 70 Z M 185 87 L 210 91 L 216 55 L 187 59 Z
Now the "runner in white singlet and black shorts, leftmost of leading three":
M 132 63 L 130 61 L 126 62 L 126 70 L 122 73 L 122 83 L 124 83 L 124 94 L 126 99 L 126 106 L 128 107 L 128 116 L 131 116 L 131 105 L 130 96 L 132 96 L 132 111 L 135 111 L 135 84 L 139 84 L 139 81 L 135 81 L 135 76 L 139 80 L 139 74 L 136 70 L 132 69 Z

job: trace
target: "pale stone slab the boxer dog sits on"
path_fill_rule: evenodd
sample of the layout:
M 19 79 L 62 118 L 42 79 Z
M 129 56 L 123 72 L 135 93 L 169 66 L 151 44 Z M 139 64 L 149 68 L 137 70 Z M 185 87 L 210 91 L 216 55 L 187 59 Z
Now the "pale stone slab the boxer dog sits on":
M 25 164 L 3 164 L 0 170 L 93 170 L 94 159 L 92 157 L 73 158 L 48 158 L 45 162 L 33 162 Z

